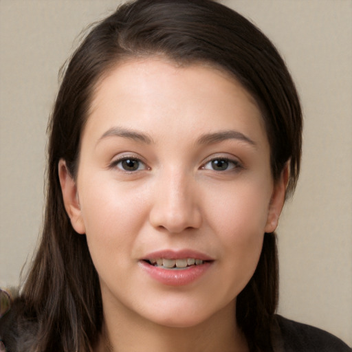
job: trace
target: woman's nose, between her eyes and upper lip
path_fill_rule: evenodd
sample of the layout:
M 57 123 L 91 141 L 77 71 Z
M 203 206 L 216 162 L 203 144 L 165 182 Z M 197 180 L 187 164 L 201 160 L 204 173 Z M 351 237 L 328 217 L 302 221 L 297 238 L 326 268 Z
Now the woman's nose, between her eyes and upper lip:
M 199 228 L 201 210 L 196 188 L 190 177 L 177 171 L 157 179 L 149 214 L 151 225 L 174 234 Z

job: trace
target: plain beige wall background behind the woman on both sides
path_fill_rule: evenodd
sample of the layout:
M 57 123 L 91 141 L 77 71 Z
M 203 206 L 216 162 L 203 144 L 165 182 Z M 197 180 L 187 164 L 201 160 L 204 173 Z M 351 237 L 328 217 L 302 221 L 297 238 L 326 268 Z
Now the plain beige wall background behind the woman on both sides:
M 0 0 L 0 286 L 18 283 L 40 231 L 58 68 L 117 3 Z M 224 3 L 278 46 L 305 111 L 303 170 L 278 229 L 279 312 L 352 344 L 352 1 Z

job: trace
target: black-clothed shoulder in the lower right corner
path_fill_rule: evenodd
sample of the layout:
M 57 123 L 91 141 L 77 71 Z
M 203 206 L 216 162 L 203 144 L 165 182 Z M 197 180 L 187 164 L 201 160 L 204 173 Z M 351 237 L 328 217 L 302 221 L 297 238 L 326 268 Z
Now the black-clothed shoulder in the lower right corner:
M 342 340 L 327 331 L 276 316 L 282 351 L 285 352 L 351 352 Z

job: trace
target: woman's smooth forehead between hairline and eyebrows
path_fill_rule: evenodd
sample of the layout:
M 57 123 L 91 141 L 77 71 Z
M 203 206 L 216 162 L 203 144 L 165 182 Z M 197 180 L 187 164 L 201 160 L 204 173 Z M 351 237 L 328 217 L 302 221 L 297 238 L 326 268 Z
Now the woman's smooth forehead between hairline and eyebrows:
M 119 63 L 100 79 L 86 128 L 103 133 L 116 124 L 150 133 L 157 124 L 179 133 L 234 124 L 264 131 L 256 101 L 233 76 L 206 63 L 180 66 L 162 58 Z

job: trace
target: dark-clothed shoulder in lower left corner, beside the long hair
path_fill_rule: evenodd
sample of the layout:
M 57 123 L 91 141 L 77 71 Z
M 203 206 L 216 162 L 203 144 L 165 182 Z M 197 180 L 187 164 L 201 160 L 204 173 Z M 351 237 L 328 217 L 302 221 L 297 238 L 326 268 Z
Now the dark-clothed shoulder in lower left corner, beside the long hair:
M 21 298 L 15 298 L 11 309 L 0 318 L 0 341 L 7 352 L 28 352 L 36 341 L 37 329 L 35 314 Z

